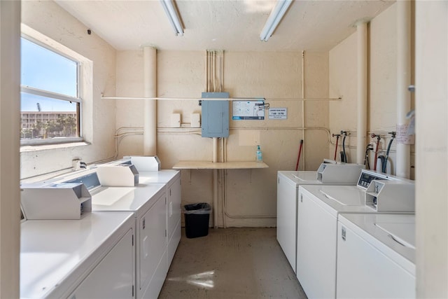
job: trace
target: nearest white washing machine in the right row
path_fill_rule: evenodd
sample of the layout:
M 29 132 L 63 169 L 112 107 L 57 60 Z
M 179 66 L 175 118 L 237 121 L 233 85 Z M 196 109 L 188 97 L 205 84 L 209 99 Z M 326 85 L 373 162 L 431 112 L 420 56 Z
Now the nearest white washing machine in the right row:
M 415 295 L 415 215 L 339 214 L 336 297 Z

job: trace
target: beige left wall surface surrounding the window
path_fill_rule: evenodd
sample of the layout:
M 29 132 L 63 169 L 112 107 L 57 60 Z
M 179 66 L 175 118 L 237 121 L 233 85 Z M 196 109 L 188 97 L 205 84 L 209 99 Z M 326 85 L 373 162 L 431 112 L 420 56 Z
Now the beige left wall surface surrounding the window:
M 115 146 L 115 101 L 101 99 L 115 92 L 116 51 L 53 1 L 23 1 L 22 23 L 74 50 L 92 62 L 90 89 L 84 90 L 83 136 L 85 146 L 43 149 L 22 148 L 20 176 L 27 178 L 72 167 L 73 158 L 90 163 L 113 158 Z

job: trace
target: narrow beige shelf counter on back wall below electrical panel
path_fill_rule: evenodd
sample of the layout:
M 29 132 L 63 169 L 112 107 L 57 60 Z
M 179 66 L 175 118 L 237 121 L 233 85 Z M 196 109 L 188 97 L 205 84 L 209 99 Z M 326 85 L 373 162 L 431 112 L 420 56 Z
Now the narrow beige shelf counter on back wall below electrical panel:
M 264 162 L 255 161 L 179 161 L 173 166 L 174 169 L 261 169 L 268 167 Z

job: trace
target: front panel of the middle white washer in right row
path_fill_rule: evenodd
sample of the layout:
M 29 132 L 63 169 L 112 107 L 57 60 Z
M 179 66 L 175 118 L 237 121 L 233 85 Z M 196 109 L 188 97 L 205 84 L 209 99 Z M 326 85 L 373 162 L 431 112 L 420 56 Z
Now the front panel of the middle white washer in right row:
M 308 298 L 335 298 L 336 231 L 335 216 L 314 202 L 311 195 L 300 190 L 297 204 L 297 279 Z

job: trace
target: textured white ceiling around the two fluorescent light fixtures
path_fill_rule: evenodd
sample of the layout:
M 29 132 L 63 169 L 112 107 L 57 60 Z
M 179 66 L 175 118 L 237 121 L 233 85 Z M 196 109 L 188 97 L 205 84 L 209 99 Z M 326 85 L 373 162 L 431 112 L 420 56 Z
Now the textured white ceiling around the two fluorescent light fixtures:
M 330 50 L 395 0 L 295 0 L 267 42 L 260 32 L 274 0 L 176 0 L 185 34 L 175 36 L 158 0 L 55 0 L 117 50 Z

